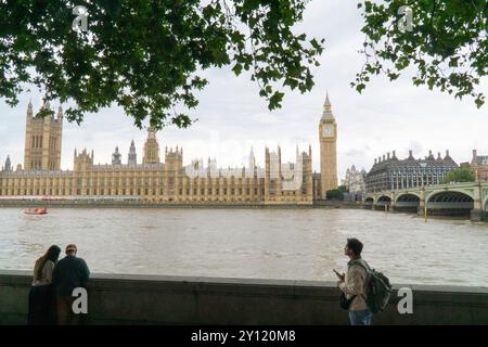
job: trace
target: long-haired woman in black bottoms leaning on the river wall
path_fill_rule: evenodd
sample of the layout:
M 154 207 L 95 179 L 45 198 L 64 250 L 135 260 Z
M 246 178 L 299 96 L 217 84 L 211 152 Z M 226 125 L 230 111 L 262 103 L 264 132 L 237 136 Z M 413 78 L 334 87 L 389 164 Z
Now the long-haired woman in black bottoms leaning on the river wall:
M 52 271 L 61 248 L 56 245 L 49 247 L 48 252 L 36 260 L 34 266 L 33 286 L 29 292 L 28 324 L 55 324 L 55 295 L 52 286 Z

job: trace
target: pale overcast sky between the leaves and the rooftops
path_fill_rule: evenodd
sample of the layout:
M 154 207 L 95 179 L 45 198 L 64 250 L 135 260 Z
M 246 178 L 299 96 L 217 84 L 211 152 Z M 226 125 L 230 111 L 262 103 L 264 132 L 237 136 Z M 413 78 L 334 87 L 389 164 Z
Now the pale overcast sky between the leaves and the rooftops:
M 472 150 L 488 154 L 488 105 L 476 108 L 472 99 L 454 100 L 449 94 L 413 87 L 412 72 L 389 82 L 376 77 L 362 94 L 349 87 L 363 64 L 357 53 L 363 36 L 362 18 L 356 1 L 314 0 L 297 27 L 309 36 L 325 38 L 321 66 L 313 69 L 316 86 L 307 94 L 286 92 L 283 108 L 268 112 L 265 100 L 248 75 L 235 77 L 230 68 L 204 72 L 209 86 L 201 92 L 200 106 L 191 112 L 198 118 L 190 129 L 176 127 L 157 133 L 162 160 L 164 147 L 183 146 L 183 165 L 192 158 L 217 158 L 219 167 L 242 166 L 254 146 L 258 165 L 264 166 L 265 146 L 282 147 L 282 160 L 294 162 L 296 145 L 312 146 L 313 168 L 318 171 L 319 133 L 325 92 L 329 90 L 332 110 L 338 124 L 338 177 L 348 167 L 369 170 L 375 157 L 396 150 L 397 156 L 426 156 L 447 149 L 458 162 L 471 160 Z M 488 94 L 484 80 L 483 91 Z M 33 89 L 35 90 L 35 89 Z M 40 107 L 37 92 L 20 95 L 20 104 L 11 108 L 0 100 L 0 163 L 10 154 L 12 164 L 24 164 L 25 114 L 29 98 L 35 110 Z M 57 108 L 57 103 L 51 106 Z M 86 121 L 64 125 L 62 169 L 73 168 L 75 147 L 94 150 L 95 164 L 110 163 L 118 145 L 123 162 L 127 162 L 130 141 L 136 141 L 138 160 L 142 159 L 145 131 L 137 129 L 131 118 L 118 107 L 86 115 Z

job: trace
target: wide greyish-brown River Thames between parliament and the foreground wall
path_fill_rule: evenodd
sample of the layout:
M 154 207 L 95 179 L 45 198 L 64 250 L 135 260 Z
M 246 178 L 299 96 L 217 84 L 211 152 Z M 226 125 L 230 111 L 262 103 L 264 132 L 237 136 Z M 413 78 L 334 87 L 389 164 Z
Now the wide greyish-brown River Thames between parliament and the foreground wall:
M 396 284 L 488 286 L 488 224 L 362 209 L 0 208 L 0 269 L 76 243 L 92 272 L 335 281 L 347 237 Z M 64 252 L 63 252 L 64 253 Z

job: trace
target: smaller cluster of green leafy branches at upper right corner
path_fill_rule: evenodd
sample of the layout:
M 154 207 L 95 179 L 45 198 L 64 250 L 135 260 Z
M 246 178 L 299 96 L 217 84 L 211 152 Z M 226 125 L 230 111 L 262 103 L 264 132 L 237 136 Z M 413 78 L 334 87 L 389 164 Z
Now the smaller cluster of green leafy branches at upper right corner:
M 453 94 L 477 98 L 483 77 L 487 76 L 486 1 L 409 1 L 412 30 L 401 31 L 403 18 L 398 13 L 402 1 L 363 1 L 358 3 L 367 38 L 360 51 L 364 64 L 356 89 L 361 92 L 372 75 L 387 75 L 393 81 L 399 72 L 410 67 L 416 73 L 414 86 Z M 394 68 L 391 68 L 393 66 Z

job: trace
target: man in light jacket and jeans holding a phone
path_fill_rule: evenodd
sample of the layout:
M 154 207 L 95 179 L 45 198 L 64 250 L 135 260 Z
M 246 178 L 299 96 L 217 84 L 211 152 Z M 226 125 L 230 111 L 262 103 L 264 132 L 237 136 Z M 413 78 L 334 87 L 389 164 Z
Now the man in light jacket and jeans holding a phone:
M 349 257 L 347 275 L 334 270 L 338 278 L 337 286 L 350 300 L 348 308 L 351 325 L 371 325 L 371 311 L 365 303 L 365 281 L 368 273 L 364 267 L 358 262 L 364 262 L 361 258 L 362 243 L 358 239 L 347 239 L 344 255 Z

